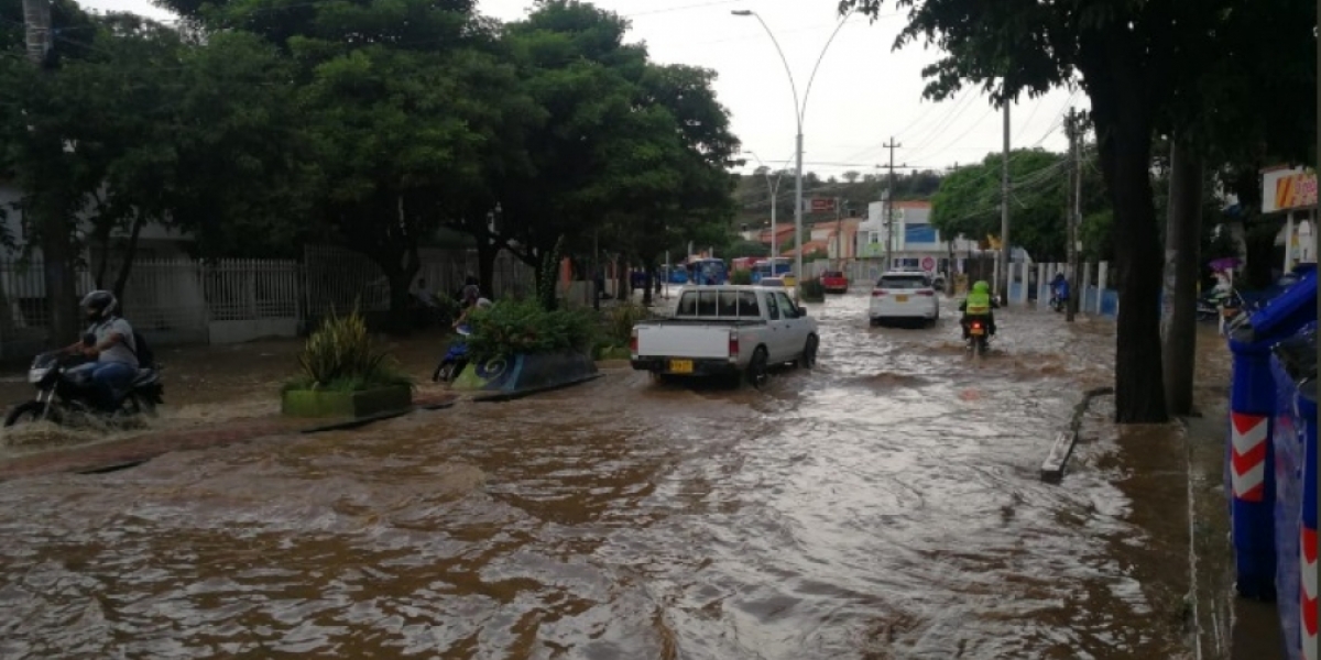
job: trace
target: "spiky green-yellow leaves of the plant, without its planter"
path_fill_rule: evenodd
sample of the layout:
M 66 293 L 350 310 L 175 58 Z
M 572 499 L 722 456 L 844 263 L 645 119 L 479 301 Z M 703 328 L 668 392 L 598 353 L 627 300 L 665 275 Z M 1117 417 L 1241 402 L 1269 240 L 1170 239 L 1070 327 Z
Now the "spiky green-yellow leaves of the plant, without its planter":
M 285 389 L 361 391 L 412 383 L 384 351 L 375 348 L 357 309 L 342 317 L 332 310 L 308 337 L 299 367 L 301 374 Z

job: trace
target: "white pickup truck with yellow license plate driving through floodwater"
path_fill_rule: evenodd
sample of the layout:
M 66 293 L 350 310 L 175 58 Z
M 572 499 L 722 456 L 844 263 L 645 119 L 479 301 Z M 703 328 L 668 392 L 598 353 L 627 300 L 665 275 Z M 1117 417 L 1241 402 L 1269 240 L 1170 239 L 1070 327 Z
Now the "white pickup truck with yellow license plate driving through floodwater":
M 633 368 L 660 376 L 745 375 L 754 387 L 766 370 L 816 363 L 816 319 L 782 288 L 694 286 L 674 315 L 633 326 Z

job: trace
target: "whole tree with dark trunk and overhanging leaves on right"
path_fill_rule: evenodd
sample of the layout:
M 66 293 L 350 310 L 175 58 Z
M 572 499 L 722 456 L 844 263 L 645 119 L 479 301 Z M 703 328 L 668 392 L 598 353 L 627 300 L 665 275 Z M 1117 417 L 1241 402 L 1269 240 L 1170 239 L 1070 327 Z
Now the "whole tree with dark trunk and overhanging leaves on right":
M 876 16 L 884 0 L 843 0 Z M 1161 378 L 1160 238 L 1148 168 L 1152 135 L 1178 94 L 1203 82 L 1202 53 L 1217 48 L 1215 25 L 1226 11 L 1254 12 L 1246 0 L 1172 5 L 898 0 L 909 25 L 896 46 L 918 38 L 946 55 L 923 74 L 926 94 L 945 98 L 966 83 L 980 84 L 997 104 L 1021 94 L 1040 95 L 1059 84 L 1081 84 L 1091 99 L 1102 172 L 1114 207 L 1120 285 L 1115 356 L 1119 422 L 1166 420 Z M 1236 9 L 1236 11 L 1235 11 Z M 970 20 L 970 17 L 975 17 Z M 1288 20 L 1310 29 L 1314 9 Z M 1189 107 L 1184 103 L 1182 107 Z

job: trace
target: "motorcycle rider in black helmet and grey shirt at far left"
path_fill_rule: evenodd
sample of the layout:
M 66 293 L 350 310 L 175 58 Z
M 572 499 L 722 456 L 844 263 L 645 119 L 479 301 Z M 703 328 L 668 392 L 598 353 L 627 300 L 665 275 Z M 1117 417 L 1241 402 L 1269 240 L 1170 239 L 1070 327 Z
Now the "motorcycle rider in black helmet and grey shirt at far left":
M 119 301 L 107 290 L 89 293 L 79 306 L 90 326 L 82 339 L 65 347 L 65 352 L 82 352 L 96 362 L 74 367 L 69 374 L 90 376 L 96 387 L 98 403 L 114 408 L 116 391 L 127 389 L 137 375 L 133 327 L 116 314 Z

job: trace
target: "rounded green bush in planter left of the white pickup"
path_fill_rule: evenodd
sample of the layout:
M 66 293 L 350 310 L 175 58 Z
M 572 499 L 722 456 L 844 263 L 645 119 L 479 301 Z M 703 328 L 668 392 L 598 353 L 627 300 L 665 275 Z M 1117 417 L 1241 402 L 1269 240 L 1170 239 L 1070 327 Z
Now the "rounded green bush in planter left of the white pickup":
M 597 333 L 592 312 L 547 310 L 536 301 L 499 301 L 469 318 L 468 352 L 476 360 L 517 352 L 585 352 Z

